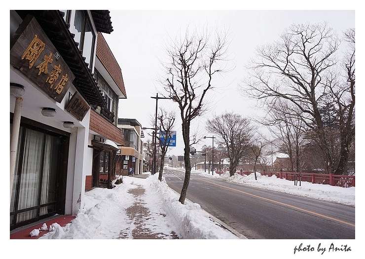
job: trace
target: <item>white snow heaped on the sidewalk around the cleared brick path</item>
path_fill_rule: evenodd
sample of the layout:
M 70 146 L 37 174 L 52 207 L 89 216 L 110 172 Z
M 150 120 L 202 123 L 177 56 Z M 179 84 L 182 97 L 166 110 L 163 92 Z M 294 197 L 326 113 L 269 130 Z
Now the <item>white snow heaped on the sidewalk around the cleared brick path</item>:
M 85 193 L 85 205 L 73 222 L 61 227 L 57 223 L 49 227 L 39 239 L 115 239 L 122 230 L 131 231 L 133 222 L 127 217 L 135 197 L 128 190 L 137 186 L 146 189 L 145 206 L 154 215 L 165 214 L 163 219 L 146 219 L 145 227 L 160 233 L 173 229 L 183 239 L 238 239 L 228 230 L 211 221 L 209 214 L 197 203 L 179 202 L 180 194 L 173 191 L 158 174 L 147 179 L 127 177 L 123 184 L 113 189 L 95 188 Z M 156 222 L 157 221 L 157 222 Z

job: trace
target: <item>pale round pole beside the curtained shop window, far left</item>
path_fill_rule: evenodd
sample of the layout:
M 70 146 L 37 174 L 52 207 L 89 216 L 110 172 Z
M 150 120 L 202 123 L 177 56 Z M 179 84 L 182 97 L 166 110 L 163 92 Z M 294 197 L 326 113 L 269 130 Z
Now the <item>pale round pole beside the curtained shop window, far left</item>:
M 13 192 L 13 181 L 15 173 L 16 152 L 18 148 L 20 118 L 22 116 L 22 105 L 23 105 L 23 98 L 16 97 L 13 126 L 11 128 L 11 137 L 10 137 L 10 204 L 11 204 L 11 194 Z

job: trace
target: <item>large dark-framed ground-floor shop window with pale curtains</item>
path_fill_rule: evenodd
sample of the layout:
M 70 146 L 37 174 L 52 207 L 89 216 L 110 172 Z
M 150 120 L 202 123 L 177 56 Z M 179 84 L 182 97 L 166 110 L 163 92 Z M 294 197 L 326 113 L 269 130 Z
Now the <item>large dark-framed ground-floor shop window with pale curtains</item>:
M 61 145 L 61 136 L 20 127 L 10 201 L 11 227 L 56 213 Z

